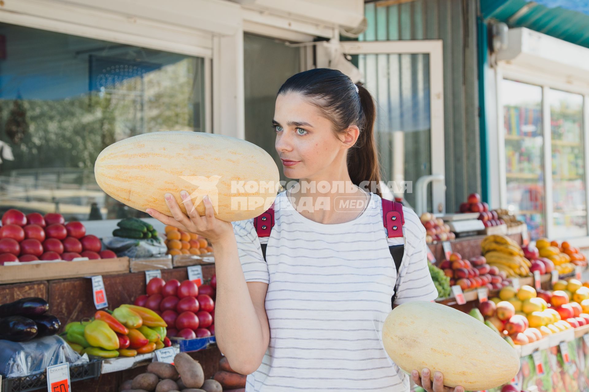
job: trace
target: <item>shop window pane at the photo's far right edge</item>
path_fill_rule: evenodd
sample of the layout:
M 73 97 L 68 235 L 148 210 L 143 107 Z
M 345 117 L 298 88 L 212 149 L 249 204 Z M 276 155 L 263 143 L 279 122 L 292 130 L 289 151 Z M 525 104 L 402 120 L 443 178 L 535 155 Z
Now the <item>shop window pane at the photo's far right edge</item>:
M 552 132 L 551 237 L 587 235 L 585 163 L 583 148 L 583 96 L 550 90 Z

